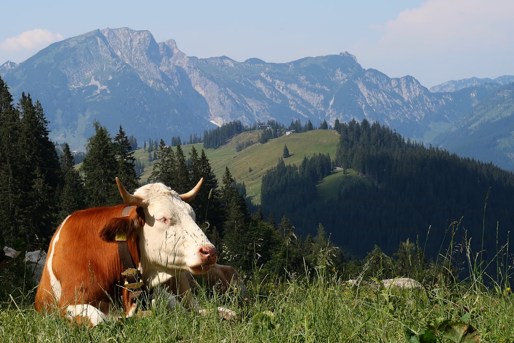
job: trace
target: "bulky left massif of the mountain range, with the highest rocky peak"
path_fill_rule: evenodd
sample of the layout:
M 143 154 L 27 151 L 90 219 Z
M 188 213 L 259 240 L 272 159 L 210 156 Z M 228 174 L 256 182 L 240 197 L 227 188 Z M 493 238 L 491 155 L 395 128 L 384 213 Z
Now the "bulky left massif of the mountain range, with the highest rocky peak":
M 169 60 L 169 59 L 168 59 Z M 183 68 L 166 63 L 148 31 L 96 30 L 54 43 L 0 69 L 13 97 L 40 100 L 51 138 L 82 148 L 93 121 L 140 141 L 214 128 L 205 99 Z

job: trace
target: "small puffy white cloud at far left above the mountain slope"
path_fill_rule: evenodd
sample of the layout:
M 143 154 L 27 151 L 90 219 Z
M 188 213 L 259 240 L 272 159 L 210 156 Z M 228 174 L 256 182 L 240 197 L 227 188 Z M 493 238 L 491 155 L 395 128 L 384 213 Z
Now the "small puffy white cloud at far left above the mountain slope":
M 11 37 L 0 43 L 3 52 L 34 51 L 63 39 L 62 34 L 44 29 L 25 31 L 17 37 Z

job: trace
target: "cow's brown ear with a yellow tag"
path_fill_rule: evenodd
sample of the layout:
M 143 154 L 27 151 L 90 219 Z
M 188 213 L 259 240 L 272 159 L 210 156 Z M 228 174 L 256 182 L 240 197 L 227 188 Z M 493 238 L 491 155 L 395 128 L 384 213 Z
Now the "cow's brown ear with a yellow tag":
M 100 238 L 107 242 L 130 239 L 139 232 L 144 225 L 142 209 L 133 208 L 128 215 L 113 218 L 100 229 Z

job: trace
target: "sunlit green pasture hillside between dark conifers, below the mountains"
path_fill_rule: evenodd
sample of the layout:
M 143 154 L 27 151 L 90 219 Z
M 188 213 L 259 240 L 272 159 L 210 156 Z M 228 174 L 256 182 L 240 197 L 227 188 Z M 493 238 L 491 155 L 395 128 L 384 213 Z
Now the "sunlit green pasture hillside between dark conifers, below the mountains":
M 260 131 L 244 132 L 232 138 L 225 146 L 218 149 L 205 149 L 214 173 L 221 182 L 228 167 L 237 183 L 244 183 L 247 195 L 251 196 L 254 204 L 261 201 L 261 178 L 266 170 L 277 165 L 282 157 L 284 145 L 287 145 L 290 157 L 284 161 L 286 165 L 299 165 L 305 156 L 322 153 L 329 154 L 331 158 L 336 156 L 339 143 L 339 134 L 332 130 L 314 130 L 306 133 L 284 135 L 276 139 L 270 139 L 264 144 L 256 143 L 242 151 L 237 152 L 236 147 L 247 140 L 257 141 Z M 182 146 L 186 156 L 189 156 L 192 145 Z M 195 144 L 199 152 L 203 144 Z M 153 154 L 153 153 L 152 153 Z M 148 153 L 143 149 L 135 152 L 134 156 L 141 160 L 145 166 L 145 172 L 141 175 L 141 181 L 146 182 L 152 173 L 154 162 L 149 163 Z

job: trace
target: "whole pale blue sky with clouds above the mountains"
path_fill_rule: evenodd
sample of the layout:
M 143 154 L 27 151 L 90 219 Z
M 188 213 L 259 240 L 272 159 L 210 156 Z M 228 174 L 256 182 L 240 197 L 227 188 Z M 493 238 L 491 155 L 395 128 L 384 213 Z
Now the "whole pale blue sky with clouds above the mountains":
M 514 75 L 512 0 L 2 2 L 0 65 L 104 28 L 148 30 L 187 56 L 286 63 L 350 52 L 363 68 L 431 86 Z

